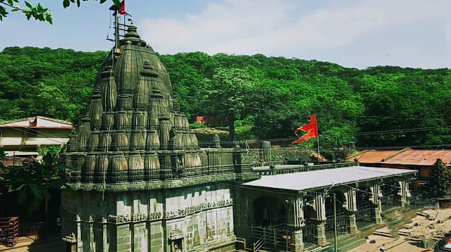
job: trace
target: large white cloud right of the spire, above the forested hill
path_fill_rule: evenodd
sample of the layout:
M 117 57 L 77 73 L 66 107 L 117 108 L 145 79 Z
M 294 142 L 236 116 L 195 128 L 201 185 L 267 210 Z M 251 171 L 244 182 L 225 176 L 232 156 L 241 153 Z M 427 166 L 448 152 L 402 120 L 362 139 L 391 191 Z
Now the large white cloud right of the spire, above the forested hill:
M 451 15 L 447 0 L 340 0 L 307 13 L 302 9 L 303 2 L 307 3 L 224 0 L 207 4 L 196 15 L 141 20 L 140 34 L 161 53 L 280 55 L 337 49 L 383 27 L 437 18 L 445 22 Z

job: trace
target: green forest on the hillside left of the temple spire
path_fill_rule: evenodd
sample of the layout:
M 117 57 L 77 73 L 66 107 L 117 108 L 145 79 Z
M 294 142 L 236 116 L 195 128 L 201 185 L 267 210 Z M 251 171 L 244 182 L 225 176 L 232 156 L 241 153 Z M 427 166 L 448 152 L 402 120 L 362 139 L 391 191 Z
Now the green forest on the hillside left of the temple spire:
M 107 53 L 8 47 L 0 53 L 0 120 L 43 115 L 75 120 Z

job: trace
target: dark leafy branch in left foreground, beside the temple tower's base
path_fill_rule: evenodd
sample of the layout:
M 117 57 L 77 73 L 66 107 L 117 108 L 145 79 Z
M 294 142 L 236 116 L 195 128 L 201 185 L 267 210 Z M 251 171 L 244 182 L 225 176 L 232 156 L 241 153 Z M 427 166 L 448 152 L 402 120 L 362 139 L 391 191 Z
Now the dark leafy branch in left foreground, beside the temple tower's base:
M 4 158 L 4 151 L 0 150 L 0 160 Z M 0 184 L 3 184 L 8 192 L 18 192 L 20 205 L 30 199 L 28 212 L 32 213 L 42 205 L 45 199 L 50 199 L 50 189 L 64 187 L 72 196 L 75 196 L 73 189 L 64 180 L 62 170 L 67 169 L 69 168 L 66 165 L 55 163 L 50 152 L 42 158 L 42 163 L 32 161 L 27 165 L 6 166 L 0 162 Z

